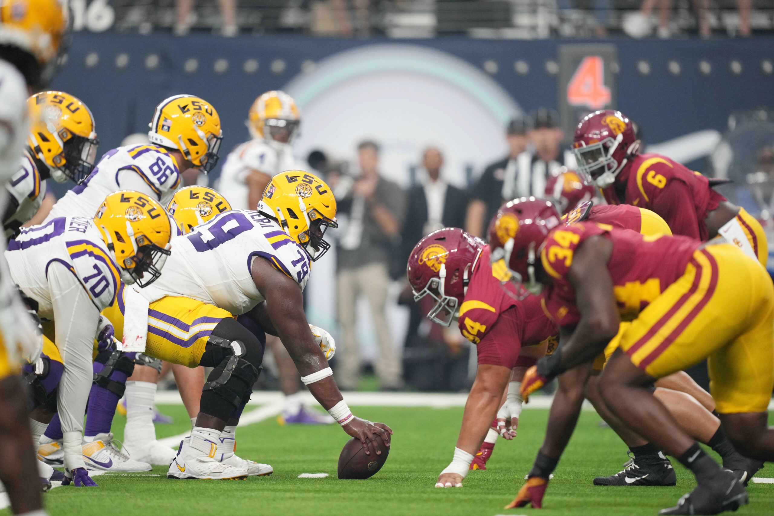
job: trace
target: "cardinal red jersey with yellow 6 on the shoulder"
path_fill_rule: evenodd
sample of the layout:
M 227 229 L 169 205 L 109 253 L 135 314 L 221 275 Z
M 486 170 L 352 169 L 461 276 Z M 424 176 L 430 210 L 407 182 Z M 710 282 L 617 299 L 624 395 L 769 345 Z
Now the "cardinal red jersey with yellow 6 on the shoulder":
M 616 194 L 625 182 L 624 198 Z M 707 241 L 707 212 L 726 200 L 712 190 L 700 173 L 659 154 L 640 154 L 615 178 L 615 184 L 602 190 L 610 204 L 632 204 L 659 214 L 673 234 Z M 713 235 L 714 236 L 714 235 Z

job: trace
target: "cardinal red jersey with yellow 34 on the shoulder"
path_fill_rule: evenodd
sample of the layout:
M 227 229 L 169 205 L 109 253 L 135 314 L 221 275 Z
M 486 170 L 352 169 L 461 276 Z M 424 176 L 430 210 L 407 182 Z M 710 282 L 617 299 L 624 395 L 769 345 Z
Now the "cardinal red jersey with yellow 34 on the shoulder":
M 553 278 L 553 284 L 544 293 L 543 306 L 548 316 L 560 326 L 573 325 L 580 320 L 567 273 L 577 248 L 598 234 L 613 243 L 608 272 L 613 280 L 618 313 L 625 321 L 635 320 L 649 302 L 676 282 L 701 245 L 693 238 L 646 237 L 634 231 L 604 229 L 591 222 L 551 231 L 540 248 L 543 268 Z

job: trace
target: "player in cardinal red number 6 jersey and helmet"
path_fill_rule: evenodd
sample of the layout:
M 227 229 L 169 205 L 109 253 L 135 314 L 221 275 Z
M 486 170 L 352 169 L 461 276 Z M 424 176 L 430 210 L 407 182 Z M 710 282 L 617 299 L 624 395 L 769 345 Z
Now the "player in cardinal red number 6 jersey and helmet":
M 640 154 L 632 121 L 621 111 L 594 111 L 574 136 L 577 172 L 609 204 L 659 214 L 673 234 L 707 241 L 717 235 L 765 267 L 769 246 L 755 217 L 712 190 L 713 179 L 659 154 Z

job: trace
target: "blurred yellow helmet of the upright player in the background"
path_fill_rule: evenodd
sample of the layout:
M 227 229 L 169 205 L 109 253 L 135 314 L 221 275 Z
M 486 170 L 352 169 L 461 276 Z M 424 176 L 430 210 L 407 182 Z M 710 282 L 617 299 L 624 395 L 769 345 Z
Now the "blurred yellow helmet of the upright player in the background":
M 267 91 L 256 98 L 248 118 L 247 127 L 252 137 L 264 138 L 267 142 L 289 142 L 301 123 L 296 101 L 284 91 Z

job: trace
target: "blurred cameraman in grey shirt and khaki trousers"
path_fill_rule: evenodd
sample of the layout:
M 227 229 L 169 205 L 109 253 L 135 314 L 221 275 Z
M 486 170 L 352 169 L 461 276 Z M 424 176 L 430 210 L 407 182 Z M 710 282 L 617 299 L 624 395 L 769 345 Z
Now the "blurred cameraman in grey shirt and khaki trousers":
M 342 335 L 337 354 L 337 382 L 344 390 L 357 388 L 360 378 L 355 330 L 356 302 L 361 293 L 371 305 L 379 347 L 374 369 L 382 389 L 402 387 L 401 364 L 392 348 L 385 301 L 390 284 L 391 252 L 399 242 L 406 214 L 406 193 L 397 183 L 379 174 L 378 152 L 375 142 L 358 145 L 360 176 L 354 180 L 350 192 L 338 202 L 338 213 L 348 218 L 337 252 L 338 313 Z

